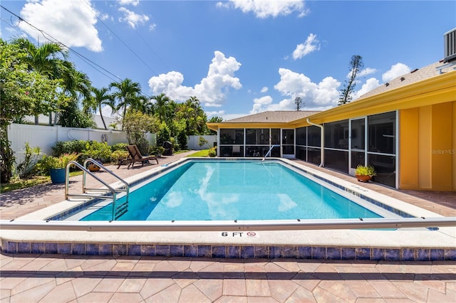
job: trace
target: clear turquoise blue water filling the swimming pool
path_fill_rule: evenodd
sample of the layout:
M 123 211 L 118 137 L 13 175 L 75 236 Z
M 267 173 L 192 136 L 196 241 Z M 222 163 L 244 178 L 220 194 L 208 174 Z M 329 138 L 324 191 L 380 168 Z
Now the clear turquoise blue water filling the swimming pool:
M 110 220 L 111 214 L 109 204 L 81 220 Z M 298 218 L 380 216 L 278 162 L 194 160 L 132 191 L 118 220 Z

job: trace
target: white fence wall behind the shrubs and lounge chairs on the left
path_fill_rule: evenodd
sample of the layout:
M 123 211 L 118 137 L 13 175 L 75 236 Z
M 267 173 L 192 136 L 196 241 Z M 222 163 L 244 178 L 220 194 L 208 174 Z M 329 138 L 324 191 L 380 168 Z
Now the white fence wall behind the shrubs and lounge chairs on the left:
M 199 137 L 204 137 L 207 144 L 199 146 Z M 16 164 L 24 161 L 24 149 L 26 143 L 30 147 L 40 147 L 44 154 L 52 154 L 52 147 L 58 141 L 71 140 L 92 140 L 108 142 L 108 145 L 116 143 L 128 143 L 125 132 L 113 129 L 90 129 L 90 128 L 73 128 L 61 126 L 43 126 L 31 124 L 11 124 L 8 127 L 8 138 L 11 141 L 11 149 L 15 152 Z M 146 134 L 146 139 L 150 144 L 157 144 L 156 134 Z M 190 136 L 187 141 L 189 149 L 208 149 L 214 147 L 217 142 L 217 135 L 213 136 Z

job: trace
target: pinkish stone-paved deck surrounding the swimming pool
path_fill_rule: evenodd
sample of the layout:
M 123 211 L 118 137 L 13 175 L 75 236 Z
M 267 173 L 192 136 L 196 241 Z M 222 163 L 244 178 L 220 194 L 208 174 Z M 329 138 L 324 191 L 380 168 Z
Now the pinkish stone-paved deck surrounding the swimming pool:
M 163 157 L 159 164 L 191 153 Z M 110 166 L 109 169 L 126 178 L 156 166 L 134 169 Z M 356 182 L 351 176 L 325 172 Z M 97 174 L 109 180 L 105 172 Z M 71 188 L 81 188 L 81 179 L 81 176 L 71 178 Z M 405 192 L 377 184 L 367 186 L 442 216 L 456 216 L 454 192 Z M 62 184 L 46 184 L 1 194 L 0 218 L 18 218 L 61 202 L 63 191 Z M 456 262 L 453 261 L 232 260 L 2 253 L 0 263 L 1 302 L 456 302 Z

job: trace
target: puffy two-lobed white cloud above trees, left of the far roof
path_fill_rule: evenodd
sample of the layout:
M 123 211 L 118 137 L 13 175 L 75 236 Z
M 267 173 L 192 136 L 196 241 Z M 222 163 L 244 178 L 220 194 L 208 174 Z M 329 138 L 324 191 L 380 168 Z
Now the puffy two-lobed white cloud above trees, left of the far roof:
M 234 77 L 240 67 L 241 63 L 237 62 L 236 58 L 226 58 L 222 52 L 216 50 L 207 77 L 195 87 L 182 85 L 184 75 L 176 71 L 150 78 L 149 87 L 154 95 L 165 93 L 175 101 L 196 96 L 204 106 L 219 107 L 222 106 L 229 88 L 239 90 L 242 87 L 239 78 Z

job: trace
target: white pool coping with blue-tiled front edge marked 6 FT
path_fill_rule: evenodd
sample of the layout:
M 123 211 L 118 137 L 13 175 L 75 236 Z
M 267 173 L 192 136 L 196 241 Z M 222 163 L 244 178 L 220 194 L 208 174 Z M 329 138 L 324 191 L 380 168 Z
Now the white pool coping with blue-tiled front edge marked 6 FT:
M 126 179 L 129 183 L 157 176 L 190 159 L 159 166 Z M 221 158 L 217 158 L 221 159 Z M 246 159 L 246 158 L 243 158 Z M 251 158 L 247 158 L 252 161 Z M 289 159 L 274 158 L 317 179 L 343 188 L 348 195 L 381 201 L 387 207 L 415 217 L 442 217 L 423 208 L 390 198 Z M 227 161 L 233 161 L 232 158 Z M 266 160 L 266 161 L 269 161 Z M 120 186 L 119 182 L 111 184 Z M 68 210 L 63 201 L 16 220 L 46 220 Z M 128 223 L 128 221 L 125 221 Z M 224 235 L 226 233 L 226 235 Z M 331 260 L 456 260 L 456 228 L 439 230 L 286 230 L 218 232 L 90 232 L 68 230 L 1 230 L 1 249 L 11 253 L 61 253 L 74 255 L 151 255 L 180 257 L 291 257 Z M 70 240 L 71 239 L 71 240 Z

